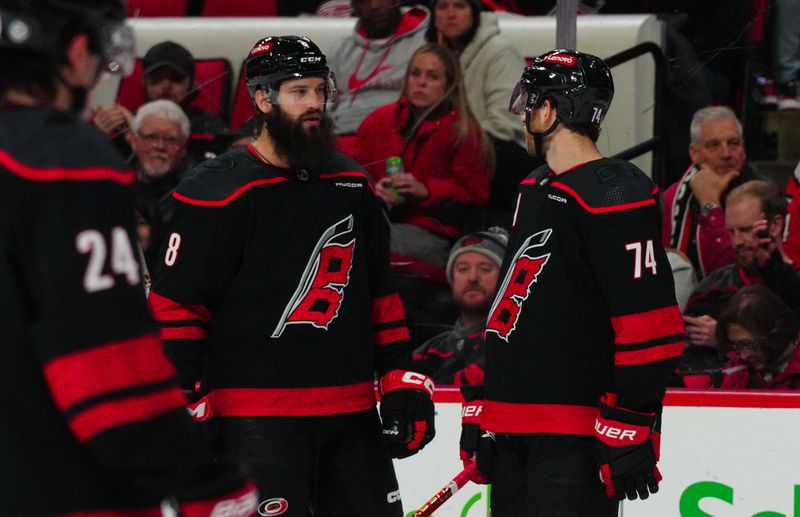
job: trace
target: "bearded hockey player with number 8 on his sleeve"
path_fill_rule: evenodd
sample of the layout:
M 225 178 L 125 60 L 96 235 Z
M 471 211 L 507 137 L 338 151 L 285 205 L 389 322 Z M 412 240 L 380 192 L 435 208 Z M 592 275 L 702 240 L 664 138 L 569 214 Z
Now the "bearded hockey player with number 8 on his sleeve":
M 412 369 L 388 220 L 333 146 L 319 48 L 262 39 L 245 73 L 259 135 L 173 194 L 150 295 L 167 353 L 185 389 L 200 385 L 195 413 L 211 415 L 218 450 L 255 478 L 262 514 L 400 516 L 391 458 L 433 438 L 433 383 Z

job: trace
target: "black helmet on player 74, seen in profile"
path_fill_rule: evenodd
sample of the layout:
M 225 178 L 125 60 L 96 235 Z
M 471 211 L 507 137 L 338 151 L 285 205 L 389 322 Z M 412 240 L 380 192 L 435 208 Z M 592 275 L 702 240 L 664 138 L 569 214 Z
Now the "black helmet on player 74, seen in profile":
M 534 59 L 514 88 L 509 111 L 532 112 L 554 101 L 565 124 L 600 125 L 614 97 L 611 69 L 602 59 L 574 50 L 551 50 Z

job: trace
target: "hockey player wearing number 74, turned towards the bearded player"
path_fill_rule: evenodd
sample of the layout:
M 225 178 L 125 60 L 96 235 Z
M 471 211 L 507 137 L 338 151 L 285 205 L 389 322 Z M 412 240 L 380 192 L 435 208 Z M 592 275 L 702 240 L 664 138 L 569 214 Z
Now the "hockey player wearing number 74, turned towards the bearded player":
M 474 392 L 465 411 L 462 459 L 488 474 L 494 517 L 609 517 L 619 499 L 658 490 L 661 402 L 684 329 L 658 189 L 595 144 L 613 93 L 602 60 L 554 50 L 512 94 L 547 165 L 518 189 L 482 411 Z

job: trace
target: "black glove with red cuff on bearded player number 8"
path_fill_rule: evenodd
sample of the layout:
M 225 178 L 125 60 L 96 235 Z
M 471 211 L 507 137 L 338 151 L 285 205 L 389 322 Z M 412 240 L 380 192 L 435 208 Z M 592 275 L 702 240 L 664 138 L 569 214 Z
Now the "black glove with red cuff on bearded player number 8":
M 433 379 L 422 373 L 392 370 L 379 383 L 383 443 L 393 458 L 416 454 L 433 440 Z

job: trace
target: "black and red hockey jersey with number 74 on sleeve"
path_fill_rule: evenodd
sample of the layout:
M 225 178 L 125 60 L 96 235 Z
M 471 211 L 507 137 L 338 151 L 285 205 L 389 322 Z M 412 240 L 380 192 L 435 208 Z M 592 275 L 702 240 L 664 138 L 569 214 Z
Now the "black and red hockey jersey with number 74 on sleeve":
M 657 190 L 613 159 L 521 183 L 486 329 L 483 428 L 593 436 L 604 392 L 660 408 L 684 329 Z

